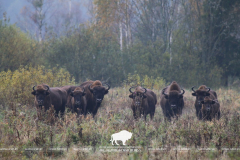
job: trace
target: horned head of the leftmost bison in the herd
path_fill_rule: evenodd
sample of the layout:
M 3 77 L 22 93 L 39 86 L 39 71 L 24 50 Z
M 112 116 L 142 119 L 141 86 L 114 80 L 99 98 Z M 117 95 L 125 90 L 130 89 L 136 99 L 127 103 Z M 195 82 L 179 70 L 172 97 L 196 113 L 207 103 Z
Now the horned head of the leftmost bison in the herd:
M 47 89 L 45 89 L 46 87 Z M 32 94 L 36 97 L 36 101 L 39 106 L 44 104 L 45 98 L 50 94 L 48 85 L 39 85 L 37 86 L 37 90 L 35 90 L 35 86 L 33 86 Z

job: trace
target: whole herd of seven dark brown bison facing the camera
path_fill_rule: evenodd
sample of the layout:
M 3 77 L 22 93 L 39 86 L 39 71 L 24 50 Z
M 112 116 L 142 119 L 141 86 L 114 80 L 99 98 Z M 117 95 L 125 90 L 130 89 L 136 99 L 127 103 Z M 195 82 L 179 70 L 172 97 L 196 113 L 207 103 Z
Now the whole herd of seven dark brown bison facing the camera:
M 46 84 L 33 87 L 32 94 L 35 96 L 35 107 L 48 110 L 54 106 L 55 114 L 59 112 L 62 116 L 65 108 L 69 108 L 72 113 L 86 116 L 87 113 L 94 117 L 97 114 L 104 95 L 108 93 L 110 85 L 99 80 L 86 81 L 80 86 L 49 87 Z M 135 89 L 135 90 L 133 90 Z M 192 87 L 192 96 L 196 97 L 195 109 L 199 120 L 211 121 L 213 118 L 220 118 L 220 105 L 217 94 L 205 85 L 201 85 L 197 90 Z M 157 104 L 156 94 L 144 87 L 138 86 L 129 89 L 129 98 L 132 99 L 131 109 L 135 119 L 150 114 L 153 119 Z M 160 105 L 164 118 L 171 121 L 171 118 L 178 118 L 184 108 L 185 91 L 177 84 L 172 82 L 161 91 Z

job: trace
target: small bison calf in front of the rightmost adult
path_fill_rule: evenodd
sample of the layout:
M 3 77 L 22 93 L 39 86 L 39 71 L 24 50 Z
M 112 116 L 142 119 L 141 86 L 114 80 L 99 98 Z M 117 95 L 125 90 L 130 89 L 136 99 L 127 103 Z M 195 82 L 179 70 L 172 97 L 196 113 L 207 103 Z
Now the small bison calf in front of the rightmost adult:
M 202 108 L 202 119 L 211 121 L 213 118 L 217 117 L 220 119 L 220 104 L 217 99 L 212 99 L 211 97 L 205 97 L 203 101 L 201 101 Z

